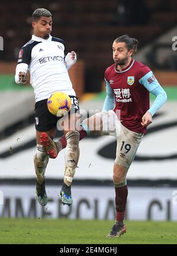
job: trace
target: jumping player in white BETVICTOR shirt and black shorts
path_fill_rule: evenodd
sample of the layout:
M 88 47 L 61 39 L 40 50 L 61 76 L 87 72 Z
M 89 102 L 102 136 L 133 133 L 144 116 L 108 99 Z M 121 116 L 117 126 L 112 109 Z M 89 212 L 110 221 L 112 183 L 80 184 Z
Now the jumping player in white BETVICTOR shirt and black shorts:
M 47 99 L 55 91 L 61 91 L 71 98 L 71 111 L 68 114 L 68 123 L 76 122 L 79 117 L 78 99 L 68 75 L 68 69 L 76 62 L 76 53 L 73 51 L 65 56 L 65 42 L 51 36 L 52 14 L 44 8 L 36 9 L 32 14 L 34 34 L 19 52 L 18 64 L 15 73 L 15 82 L 24 84 L 27 81 L 27 71 L 30 71 L 30 83 L 35 93 L 35 129 L 37 137 L 37 152 L 34 156 L 36 180 L 36 197 L 41 206 L 47 204 L 45 191 L 45 168 L 48 164 L 48 153 L 56 157 L 52 139 L 57 131 L 58 117 L 48 111 Z M 75 126 L 75 123 L 74 123 Z M 65 151 L 64 183 L 61 188 L 61 201 L 70 205 L 71 183 L 76 171 L 79 158 L 79 133 L 76 127 L 64 126 L 64 135 L 67 140 Z M 51 146 L 52 145 L 52 146 Z M 48 153 L 47 153 L 48 152 Z

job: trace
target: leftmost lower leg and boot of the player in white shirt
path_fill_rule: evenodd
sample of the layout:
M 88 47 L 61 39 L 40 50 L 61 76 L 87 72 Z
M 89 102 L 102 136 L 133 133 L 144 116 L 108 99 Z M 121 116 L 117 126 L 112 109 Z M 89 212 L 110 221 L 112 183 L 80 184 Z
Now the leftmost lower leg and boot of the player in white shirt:
M 56 128 L 45 132 L 48 136 L 53 137 L 55 135 Z M 37 152 L 34 155 L 34 167 L 36 174 L 35 196 L 41 206 L 47 204 L 47 193 L 45 191 L 45 169 L 48 164 L 48 154 L 44 146 L 41 144 L 41 133 L 36 131 L 37 136 Z

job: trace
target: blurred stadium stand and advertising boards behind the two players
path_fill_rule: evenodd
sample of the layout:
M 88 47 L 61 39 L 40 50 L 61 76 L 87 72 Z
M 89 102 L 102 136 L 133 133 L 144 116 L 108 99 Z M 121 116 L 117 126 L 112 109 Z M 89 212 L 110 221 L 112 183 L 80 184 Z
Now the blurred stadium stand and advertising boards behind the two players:
M 19 49 L 31 38 L 31 14 L 41 7 L 53 14 L 52 35 L 66 41 L 66 52 L 77 52 L 70 76 L 82 109 L 101 110 L 104 70 L 112 64 L 113 40 L 122 34 L 139 40 L 135 59 L 152 68 L 168 102 L 154 117 L 129 169 L 126 217 L 177 220 L 175 0 L 168 5 L 158 0 L 7 1 L 1 5 L 0 216 L 114 219 L 116 142 L 112 137 L 89 136 L 80 142 L 71 207 L 62 206 L 57 196 L 64 175 L 64 151 L 47 167 L 47 207 L 35 200 L 34 94 L 29 83 L 15 84 L 14 72 Z

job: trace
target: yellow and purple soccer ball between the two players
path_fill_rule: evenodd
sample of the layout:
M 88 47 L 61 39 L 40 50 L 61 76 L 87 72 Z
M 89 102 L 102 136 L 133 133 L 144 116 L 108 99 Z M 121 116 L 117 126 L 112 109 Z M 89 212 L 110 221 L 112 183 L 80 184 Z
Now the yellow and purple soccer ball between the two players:
M 47 107 L 54 116 L 64 116 L 71 110 L 71 98 L 64 92 L 54 92 L 47 100 Z

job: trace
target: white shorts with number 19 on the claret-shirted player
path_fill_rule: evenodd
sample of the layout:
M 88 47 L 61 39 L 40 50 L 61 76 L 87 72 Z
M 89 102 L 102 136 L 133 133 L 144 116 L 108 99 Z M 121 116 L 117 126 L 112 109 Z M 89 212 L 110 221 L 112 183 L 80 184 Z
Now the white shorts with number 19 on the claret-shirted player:
M 103 121 L 101 135 L 110 135 L 117 138 L 115 163 L 129 169 L 132 164 L 137 148 L 140 145 L 144 133 L 136 133 L 122 125 L 113 110 L 97 113 Z

